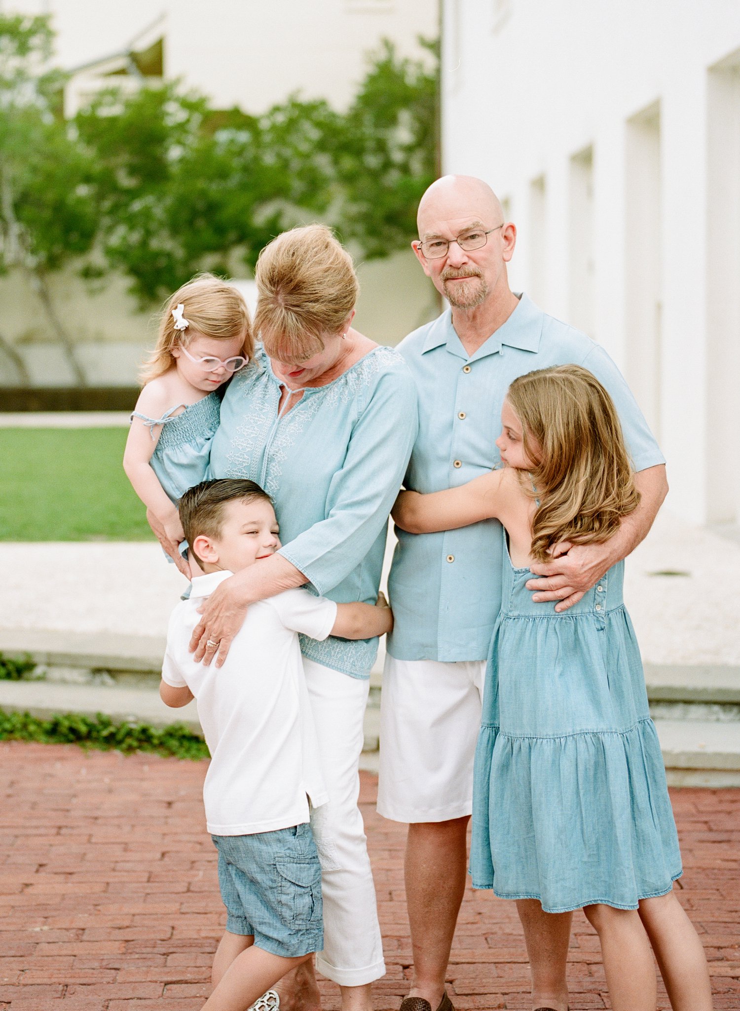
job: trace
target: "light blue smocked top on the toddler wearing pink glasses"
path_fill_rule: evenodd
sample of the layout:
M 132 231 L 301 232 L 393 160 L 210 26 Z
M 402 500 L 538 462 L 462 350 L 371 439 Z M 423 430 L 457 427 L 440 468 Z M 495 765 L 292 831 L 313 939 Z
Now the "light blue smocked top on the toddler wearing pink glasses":
M 218 428 L 220 398 L 217 393 L 208 393 L 189 403 L 180 415 L 174 413 L 181 406 L 170 407 L 162 418 L 148 418 L 137 410 L 131 413 L 131 418 L 141 418 L 150 431 L 156 425 L 162 426 L 150 465 L 175 504 L 188 488 L 205 478 L 211 440 Z

